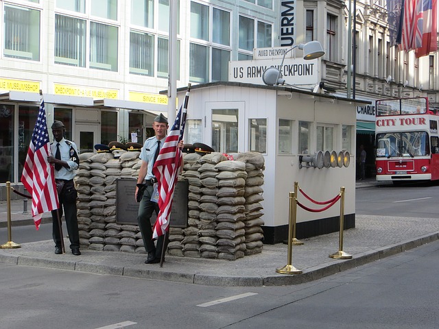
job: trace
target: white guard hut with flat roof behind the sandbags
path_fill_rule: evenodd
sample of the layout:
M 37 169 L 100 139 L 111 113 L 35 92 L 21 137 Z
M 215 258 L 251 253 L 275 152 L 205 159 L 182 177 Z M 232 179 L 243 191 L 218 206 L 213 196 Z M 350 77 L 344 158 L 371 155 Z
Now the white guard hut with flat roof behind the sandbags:
M 186 91 L 178 89 L 179 103 Z M 368 103 L 289 86 L 199 84 L 191 88 L 184 139 L 227 154 L 263 154 L 264 243 L 278 243 L 287 239 L 289 192 L 294 191 L 294 182 L 318 202 L 333 199 L 344 186 L 344 228 L 355 227 L 355 109 Z M 333 159 L 335 167 L 324 167 L 329 161 L 325 151 L 337 156 L 343 151 L 344 160 L 350 163 L 338 167 Z M 311 209 L 326 206 L 309 202 L 300 192 L 297 197 Z M 298 206 L 296 237 L 336 232 L 339 223 L 340 202 L 322 212 Z

